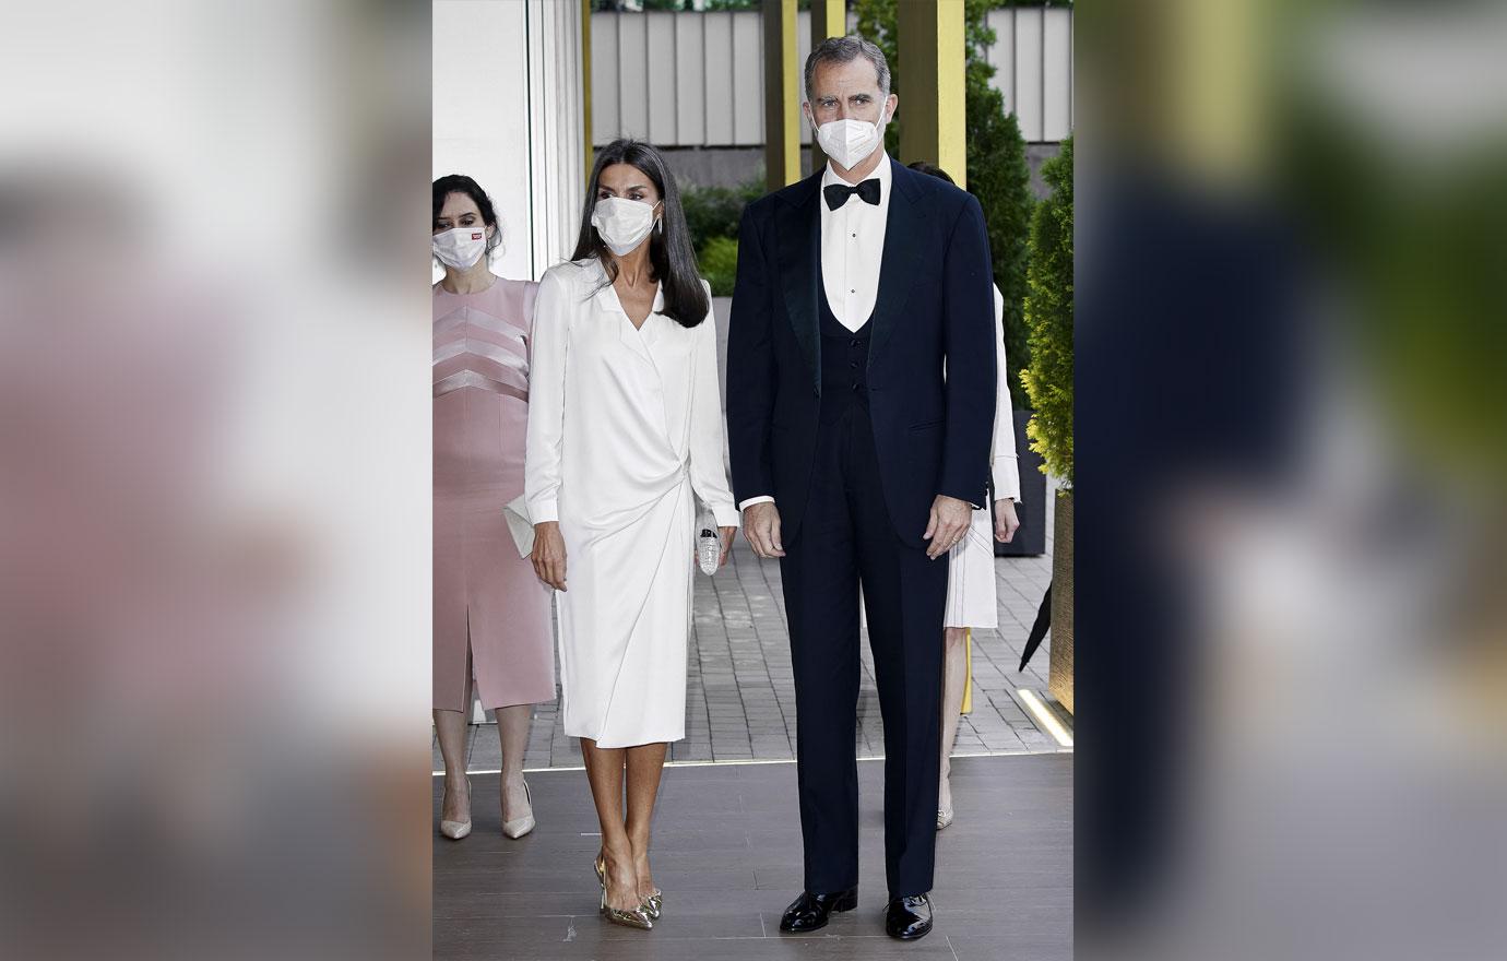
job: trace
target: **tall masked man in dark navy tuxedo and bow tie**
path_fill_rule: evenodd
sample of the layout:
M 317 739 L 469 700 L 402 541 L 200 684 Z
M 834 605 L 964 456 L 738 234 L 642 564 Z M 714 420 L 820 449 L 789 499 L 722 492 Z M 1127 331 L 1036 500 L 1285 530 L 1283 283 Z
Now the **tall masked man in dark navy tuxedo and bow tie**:
M 728 343 L 732 487 L 755 553 L 781 559 L 796 679 L 805 890 L 781 929 L 857 902 L 862 586 L 885 720 L 885 926 L 918 938 L 948 550 L 987 503 L 989 238 L 978 200 L 885 154 L 898 98 L 877 47 L 823 41 L 805 92 L 829 163 L 744 211 Z

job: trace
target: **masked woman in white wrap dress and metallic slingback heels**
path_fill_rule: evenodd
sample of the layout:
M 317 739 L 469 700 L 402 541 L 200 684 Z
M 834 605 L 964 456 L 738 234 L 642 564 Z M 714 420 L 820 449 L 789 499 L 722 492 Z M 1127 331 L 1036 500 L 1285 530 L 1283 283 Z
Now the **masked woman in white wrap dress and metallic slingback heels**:
M 540 282 L 524 494 L 558 592 L 565 734 L 601 821 L 601 913 L 637 928 L 663 904 L 650 821 L 666 743 L 686 735 L 696 499 L 720 563 L 738 524 L 723 449 L 711 289 L 680 191 L 653 146 L 613 142 L 571 261 Z

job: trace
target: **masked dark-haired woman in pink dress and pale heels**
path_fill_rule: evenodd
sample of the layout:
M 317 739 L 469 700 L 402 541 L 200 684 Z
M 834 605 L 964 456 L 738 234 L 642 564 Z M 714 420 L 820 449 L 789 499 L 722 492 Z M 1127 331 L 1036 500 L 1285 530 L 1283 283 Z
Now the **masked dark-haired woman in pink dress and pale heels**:
M 469 176 L 434 181 L 434 728 L 445 756 L 440 833 L 470 833 L 472 684 L 497 715 L 502 831 L 533 830 L 523 752 L 533 705 L 555 699 L 550 593 L 503 506 L 523 494 L 529 346 L 538 285 L 491 273 L 502 241 Z

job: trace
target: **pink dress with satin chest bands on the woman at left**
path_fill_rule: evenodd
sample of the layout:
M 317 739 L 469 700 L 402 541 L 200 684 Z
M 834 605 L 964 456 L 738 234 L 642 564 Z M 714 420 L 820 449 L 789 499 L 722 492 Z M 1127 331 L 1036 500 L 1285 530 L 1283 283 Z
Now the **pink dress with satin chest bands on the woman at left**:
M 503 518 L 523 493 L 529 346 L 538 285 L 434 286 L 434 706 L 555 700 L 550 589 Z

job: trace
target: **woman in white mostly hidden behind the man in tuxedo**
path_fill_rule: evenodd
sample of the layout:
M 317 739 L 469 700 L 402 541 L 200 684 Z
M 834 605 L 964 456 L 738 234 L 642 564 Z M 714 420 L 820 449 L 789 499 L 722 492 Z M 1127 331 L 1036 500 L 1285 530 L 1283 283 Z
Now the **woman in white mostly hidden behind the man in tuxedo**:
M 928 163 L 910 164 L 913 170 L 952 178 Z M 995 360 L 998 363 L 998 393 L 995 398 L 995 437 L 990 471 L 995 488 L 995 520 L 989 511 L 974 511 L 967 533 L 948 554 L 946 621 L 943 633 L 946 657 L 942 663 L 942 779 L 937 789 L 937 830 L 952 824 L 952 744 L 957 722 L 963 712 L 963 697 L 969 693 L 969 643 L 972 628 L 999 627 L 995 595 L 995 541 L 1008 544 L 1020 521 L 1016 503 L 1020 500 L 1020 470 L 1016 456 L 1014 410 L 1010 405 L 1010 368 L 1005 363 L 1005 297 L 995 288 Z

